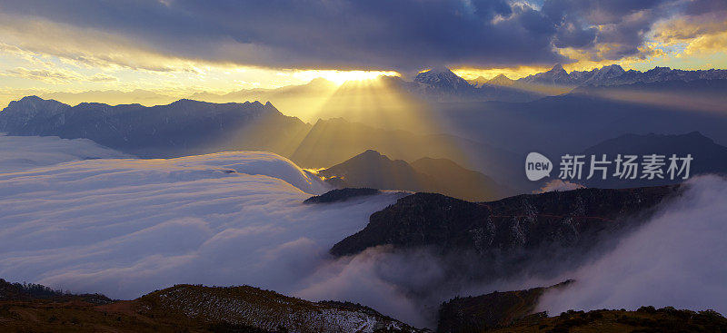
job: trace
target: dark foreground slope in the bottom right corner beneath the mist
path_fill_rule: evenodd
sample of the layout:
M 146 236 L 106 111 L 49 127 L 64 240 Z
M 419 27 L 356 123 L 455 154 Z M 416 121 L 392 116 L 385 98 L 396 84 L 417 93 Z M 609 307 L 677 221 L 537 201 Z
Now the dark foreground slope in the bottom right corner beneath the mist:
M 543 293 L 565 289 L 572 281 L 548 288 L 513 290 L 450 299 L 439 312 L 439 333 L 464 332 L 719 332 L 727 329 L 727 318 L 713 310 L 691 311 L 665 307 L 568 310 L 553 317 L 546 312 L 533 313 Z M 553 314 L 555 315 L 555 314 Z

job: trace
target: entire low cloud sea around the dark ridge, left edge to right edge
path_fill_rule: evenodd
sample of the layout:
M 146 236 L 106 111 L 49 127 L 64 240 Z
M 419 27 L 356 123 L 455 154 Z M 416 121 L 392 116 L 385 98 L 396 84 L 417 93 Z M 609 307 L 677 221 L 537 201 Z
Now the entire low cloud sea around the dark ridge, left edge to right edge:
M 576 279 L 542 310 L 642 305 L 727 312 L 727 181 L 701 177 L 651 221 L 562 276 L 451 281 L 425 250 L 334 243 L 402 192 L 304 204 L 330 188 L 268 152 L 140 160 L 87 140 L 0 136 L 0 278 L 134 299 L 177 283 L 252 285 L 360 302 L 416 326 L 436 325 L 455 295 Z

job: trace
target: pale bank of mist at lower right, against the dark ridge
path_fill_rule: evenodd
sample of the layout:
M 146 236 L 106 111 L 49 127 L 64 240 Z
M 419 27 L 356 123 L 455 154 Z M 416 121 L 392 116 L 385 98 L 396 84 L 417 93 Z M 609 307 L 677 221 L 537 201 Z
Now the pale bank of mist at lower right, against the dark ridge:
M 545 294 L 540 310 L 714 309 L 727 313 L 727 180 L 704 176 L 612 252 Z

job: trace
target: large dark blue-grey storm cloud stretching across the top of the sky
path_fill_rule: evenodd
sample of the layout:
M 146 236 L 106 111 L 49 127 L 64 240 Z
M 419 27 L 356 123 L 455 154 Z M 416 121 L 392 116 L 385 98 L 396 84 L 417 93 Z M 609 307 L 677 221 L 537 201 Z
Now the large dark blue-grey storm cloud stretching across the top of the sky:
M 503 0 L 0 0 L 5 14 L 122 34 L 160 54 L 404 71 L 567 62 L 555 47 L 596 43 L 618 44 L 613 57 L 633 54 L 667 7 L 661 0 L 546 0 L 542 10 Z

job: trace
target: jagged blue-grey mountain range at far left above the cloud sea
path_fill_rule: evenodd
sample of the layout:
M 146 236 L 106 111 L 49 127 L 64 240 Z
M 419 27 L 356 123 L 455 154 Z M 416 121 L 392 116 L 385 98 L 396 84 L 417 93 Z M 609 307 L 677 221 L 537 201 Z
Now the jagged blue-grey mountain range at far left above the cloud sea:
M 270 103 L 203 103 L 74 107 L 37 97 L 11 103 L 0 113 L 0 131 L 10 135 L 87 138 L 144 157 L 173 157 L 225 150 L 290 155 L 308 125 L 284 116 Z

